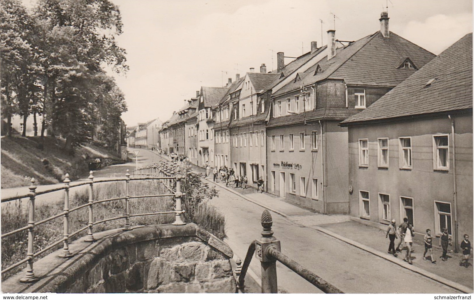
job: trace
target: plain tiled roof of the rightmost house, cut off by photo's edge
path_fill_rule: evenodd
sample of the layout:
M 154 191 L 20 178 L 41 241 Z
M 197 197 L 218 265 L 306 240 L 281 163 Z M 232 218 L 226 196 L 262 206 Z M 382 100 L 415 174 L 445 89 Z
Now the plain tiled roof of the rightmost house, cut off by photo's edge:
M 470 33 L 367 109 L 341 124 L 472 108 L 472 55 L 472 33 Z M 435 80 L 426 85 L 430 79 Z

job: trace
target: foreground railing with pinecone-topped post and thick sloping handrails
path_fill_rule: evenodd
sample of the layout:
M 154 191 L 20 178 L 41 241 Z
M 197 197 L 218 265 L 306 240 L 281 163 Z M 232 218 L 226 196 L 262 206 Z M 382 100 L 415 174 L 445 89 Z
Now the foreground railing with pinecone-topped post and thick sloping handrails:
M 262 213 L 262 238 L 254 240 L 248 247 L 244 263 L 237 261 L 237 289 L 245 291 L 245 276 L 247 274 L 250 261 L 255 256 L 260 260 L 262 266 L 262 293 L 277 293 L 278 284 L 276 280 L 276 261 L 287 266 L 306 281 L 313 284 L 325 293 L 343 293 L 337 287 L 326 282 L 324 279 L 298 264 L 280 251 L 280 241 L 273 237 L 272 216 L 270 212 L 264 210 Z

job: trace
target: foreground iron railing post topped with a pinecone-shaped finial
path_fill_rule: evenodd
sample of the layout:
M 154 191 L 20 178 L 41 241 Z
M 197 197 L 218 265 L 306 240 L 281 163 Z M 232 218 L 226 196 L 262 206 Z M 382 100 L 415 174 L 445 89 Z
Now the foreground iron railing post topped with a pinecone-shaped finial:
M 262 270 L 262 293 L 277 293 L 276 259 L 268 255 L 270 247 L 280 251 L 280 241 L 273 237 L 272 215 L 267 210 L 262 213 L 262 237 L 255 240 L 255 256 L 260 260 Z

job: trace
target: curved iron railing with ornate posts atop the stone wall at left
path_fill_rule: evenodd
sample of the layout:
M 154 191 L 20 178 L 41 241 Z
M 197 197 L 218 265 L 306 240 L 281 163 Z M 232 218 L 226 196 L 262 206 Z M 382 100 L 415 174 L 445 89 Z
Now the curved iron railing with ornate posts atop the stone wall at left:
M 9 231 L 9 232 L 4 233 L 4 234 L 1 235 L 1 238 L 3 239 L 3 238 L 7 238 L 7 237 L 9 237 L 13 234 L 16 234 L 18 232 L 28 230 L 27 257 L 20 260 L 20 261 L 18 261 L 17 263 L 15 263 L 13 265 L 9 265 L 5 269 L 2 269 L 1 274 L 4 274 L 4 273 L 20 266 L 20 265 L 23 265 L 23 264 L 26 263 L 27 264 L 26 273 L 25 273 L 24 277 L 20 280 L 20 282 L 25 282 L 25 283 L 35 282 L 35 281 L 40 279 L 40 278 L 35 276 L 35 273 L 33 271 L 33 264 L 34 264 L 34 260 L 35 260 L 36 256 L 39 256 L 40 254 L 50 250 L 51 248 L 63 243 L 63 251 L 62 251 L 62 254 L 60 256 L 64 257 L 64 258 L 69 258 L 69 257 L 73 256 L 73 253 L 71 253 L 69 251 L 69 239 L 71 239 L 72 237 L 78 235 L 82 231 L 87 230 L 87 237 L 85 238 L 85 241 L 86 242 L 93 242 L 94 241 L 94 236 L 93 236 L 94 225 L 104 223 L 104 222 L 107 222 L 107 221 L 125 219 L 125 224 L 124 224 L 123 230 L 132 230 L 133 228 L 130 227 L 130 218 L 132 218 L 132 217 L 174 213 L 175 214 L 175 220 L 172 224 L 173 225 L 184 225 L 185 222 L 183 222 L 182 218 L 181 218 L 182 213 L 184 213 L 184 211 L 182 210 L 182 206 L 181 206 L 181 200 L 182 200 L 181 179 L 183 178 L 183 176 L 180 175 L 180 174 L 176 174 L 176 175 L 171 176 L 171 172 L 168 172 L 167 170 L 163 170 L 162 168 L 155 168 L 155 171 L 156 172 L 152 174 L 152 175 L 155 175 L 155 176 L 150 176 L 150 174 L 146 174 L 146 176 L 139 176 L 139 177 L 137 176 L 137 177 L 131 178 L 129 171 L 127 170 L 127 173 L 125 174 L 125 178 L 100 179 L 100 180 L 94 180 L 93 172 L 91 171 L 90 174 L 89 174 L 89 177 L 88 177 L 88 179 L 89 179 L 88 181 L 79 182 L 79 183 L 75 183 L 75 184 L 70 184 L 71 180 L 69 179 L 69 175 L 66 174 L 65 179 L 64 179 L 64 186 L 63 187 L 52 188 L 52 189 L 48 189 L 48 190 L 38 192 L 38 193 L 36 193 L 35 179 L 32 178 L 31 179 L 31 185 L 28 187 L 28 189 L 29 189 L 28 194 L 22 194 L 22 195 L 17 195 L 17 196 L 1 199 L 1 203 L 7 203 L 7 202 L 10 202 L 10 201 L 19 200 L 19 199 L 22 199 L 22 198 L 29 198 L 27 225 L 24 226 L 24 227 Z M 135 174 L 135 172 L 134 172 L 134 174 Z M 130 181 L 133 181 L 133 180 L 159 180 L 159 181 L 161 180 L 162 182 L 164 182 L 164 186 L 169 191 L 169 194 L 152 194 L 152 195 L 133 195 L 133 196 L 130 196 L 130 194 L 129 194 L 129 185 L 130 185 Z M 174 180 L 176 181 L 176 189 L 175 190 L 173 190 L 173 181 Z M 120 181 L 125 181 L 125 184 L 126 184 L 125 196 L 110 198 L 110 199 L 102 199 L 102 200 L 94 199 L 93 193 L 92 193 L 94 184 L 105 183 L 105 182 L 120 182 Z M 79 206 L 74 207 L 74 208 L 69 208 L 69 191 L 70 191 L 70 189 L 73 188 L 73 187 L 78 187 L 78 186 L 82 186 L 82 185 L 88 185 L 88 189 L 89 189 L 88 203 L 83 204 L 83 205 L 79 205 Z M 48 194 L 48 193 L 61 191 L 61 190 L 64 190 L 64 211 L 61 212 L 61 213 L 58 213 L 54 216 L 48 217 L 46 219 L 36 221 L 35 220 L 35 199 L 36 199 L 36 196 L 40 195 L 40 194 Z M 130 205 L 129 205 L 130 199 L 134 199 L 134 198 L 156 198 L 156 197 L 168 197 L 168 196 L 173 196 L 174 197 L 174 200 L 175 200 L 175 210 L 174 211 L 170 211 L 170 212 L 146 212 L 146 213 L 137 213 L 137 214 L 131 214 L 130 213 Z M 109 218 L 109 219 L 103 219 L 103 220 L 97 220 L 97 221 L 94 220 L 93 207 L 94 207 L 95 204 L 105 203 L 105 202 L 110 202 L 110 201 L 119 201 L 119 200 L 125 200 L 125 214 L 124 215 L 112 217 L 112 218 Z M 69 232 L 69 213 L 71 213 L 73 211 L 76 211 L 76 210 L 79 210 L 79 209 L 82 209 L 82 208 L 86 208 L 86 207 L 88 208 L 88 216 L 89 216 L 89 220 L 88 220 L 87 225 L 85 225 L 84 227 L 74 231 L 73 233 L 70 233 Z M 63 223 L 64 223 L 63 238 L 55 241 L 51 245 L 48 245 L 47 247 L 45 247 L 45 248 L 43 248 L 43 249 L 41 249 L 41 250 L 39 250 L 35 253 L 34 252 L 35 227 L 40 225 L 40 224 L 46 223 L 48 221 L 55 220 L 55 219 L 60 218 L 60 217 L 63 217 Z

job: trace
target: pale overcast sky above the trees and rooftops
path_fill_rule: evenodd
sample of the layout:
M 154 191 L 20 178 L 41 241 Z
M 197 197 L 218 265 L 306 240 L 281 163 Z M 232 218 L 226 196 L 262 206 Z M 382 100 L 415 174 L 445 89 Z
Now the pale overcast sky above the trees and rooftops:
M 170 118 L 201 86 L 220 87 L 276 53 L 299 56 L 326 31 L 353 41 L 379 30 L 386 0 L 111 0 L 123 18 L 119 44 L 130 71 L 115 76 L 126 95 L 128 126 Z M 472 32 L 471 0 L 388 1 L 390 30 L 439 54 Z M 273 49 L 273 52 L 272 52 Z M 285 63 L 290 62 L 286 59 Z M 272 68 L 273 66 L 273 68 Z

